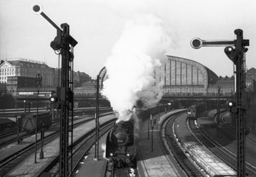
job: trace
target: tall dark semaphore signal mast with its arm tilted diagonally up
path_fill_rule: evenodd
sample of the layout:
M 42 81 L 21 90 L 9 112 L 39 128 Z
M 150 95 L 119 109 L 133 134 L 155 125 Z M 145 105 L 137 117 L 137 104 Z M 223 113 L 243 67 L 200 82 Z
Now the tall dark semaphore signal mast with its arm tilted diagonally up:
M 68 133 L 73 135 L 73 127 L 68 127 L 69 111 L 74 108 L 73 98 L 73 60 L 74 60 L 74 47 L 77 41 L 70 35 L 70 26 L 68 24 L 61 24 L 58 26 L 56 23 L 43 12 L 41 5 L 34 5 L 33 12 L 41 14 L 54 28 L 56 28 L 57 35 L 54 41 L 51 42 L 51 48 L 56 52 L 60 52 L 62 58 L 61 68 L 61 83 L 60 83 L 60 176 L 67 177 L 68 174 Z M 73 120 L 73 119 L 72 119 Z M 71 135 L 71 136 L 72 136 Z M 73 138 L 73 136 L 71 137 Z M 72 147 L 71 147 L 72 149 Z M 71 152 L 72 153 L 72 152 Z M 72 159 L 72 157 L 71 157 Z M 71 162 L 72 164 L 72 162 Z M 72 169 L 71 169 L 72 170 Z

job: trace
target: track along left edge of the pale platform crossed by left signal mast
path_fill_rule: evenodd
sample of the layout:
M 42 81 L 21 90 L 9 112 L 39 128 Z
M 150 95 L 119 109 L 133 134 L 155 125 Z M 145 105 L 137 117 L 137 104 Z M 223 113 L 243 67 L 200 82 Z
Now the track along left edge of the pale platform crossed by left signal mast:
M 88 121 L 91 121 L 93 119 L 94 118 L 76 123 L 74 125 L 74 128 L 83 123 L 87 123 Z M 55 138 L 58 138 L 58 136 L 59 136 L 59 131 L 53 132 L 53 134 L 49 134 L 48 136 L 45 136 L 44 145 L 49 144 Z M 39 144 L 40 144 L 40 140 L 37 141 L 37 149 L 40 148 Z M 22 163 L 22 161 L 24 161 L 24 159 L 29 155 L 32 155 L 32 153 L 35 153 L 35 143 L 29 144 L 28 146 L 24 147 L 20 151 L 13 153 L 12 155 L 9 155 L 5 159 L 1 160 L 0 176 L 5 176 L 5 174 L 10 172 L 14 167 L 19 165 L 20 163 Z

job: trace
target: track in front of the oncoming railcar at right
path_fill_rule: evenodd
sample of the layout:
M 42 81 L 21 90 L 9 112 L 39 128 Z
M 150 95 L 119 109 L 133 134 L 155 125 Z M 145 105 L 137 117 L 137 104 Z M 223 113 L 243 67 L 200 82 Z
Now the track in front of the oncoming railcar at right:
M 201 130 L 200 128 L 197 128 L 194 121 L 189 121 L 190 130 L 192 133 L 203 143 L 204 146 L 206 146 L 208 149 L 210 149 L 217 157 L 222 159 L 226 164 L 228 164 L 230 167 L 232 167 L 234 170 L 236 170 L 237 165 L 237 157 L 235 153 L 232 153 L 230 150 L 226 149 L 223 145 L 220 144 L 220 142 L 217 142 L 214 138 L 209 136 L 204 130 Z M 234 132 L 226 132 L 228 128 L 221 128 L 221 132 L 223 130 L 225 131 L 224 134 L 233 134 L 232 140 L 234 140 Z M 231 130 L 231 129 L 229 129 Z M 230 139 L 230 138 L 228 138 Z M 256 168 L 253 167 L 253 165 L 246 163 L 246 171 L 249 176 L 256 176 Z

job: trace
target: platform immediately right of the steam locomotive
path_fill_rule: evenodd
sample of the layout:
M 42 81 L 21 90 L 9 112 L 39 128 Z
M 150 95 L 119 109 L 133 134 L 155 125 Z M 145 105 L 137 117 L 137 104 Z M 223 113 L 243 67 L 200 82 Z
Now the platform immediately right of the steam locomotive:
M 158 140 L 158 122 L 163 117 L 169 117 L 173 111 L 169 113 L 161 113 L 152 116 L 156 118 L 154 130 L 150 127 L 148 134 L 148 121 L 144 121 L 140 129 L 137 153 L 137 168 L 140 177 L 148 176 L 185 176 L 174 157 L 163 151 Z M 153 134 L 153 135 L 152 135 Z M 152 146 L 153 140 L 153 146 Z

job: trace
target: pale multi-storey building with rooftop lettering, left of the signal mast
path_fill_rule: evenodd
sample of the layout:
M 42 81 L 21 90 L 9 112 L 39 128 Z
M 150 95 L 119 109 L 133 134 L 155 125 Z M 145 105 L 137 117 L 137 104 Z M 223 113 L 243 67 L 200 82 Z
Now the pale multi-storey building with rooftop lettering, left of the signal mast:
M 45 62 L 26 58 L 2 60 L 0 65 L 1 91 L 14 94 L 17 87 L 33 87 L 37 73 L 42 75 L 42 87 L 53 85 L 54 68 L 50 68 Z

